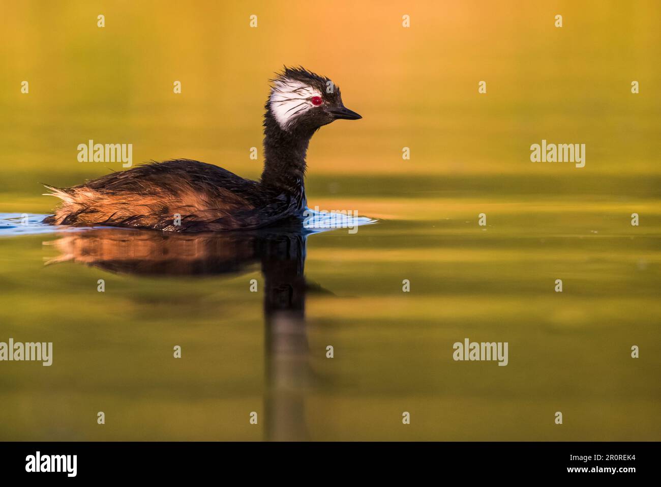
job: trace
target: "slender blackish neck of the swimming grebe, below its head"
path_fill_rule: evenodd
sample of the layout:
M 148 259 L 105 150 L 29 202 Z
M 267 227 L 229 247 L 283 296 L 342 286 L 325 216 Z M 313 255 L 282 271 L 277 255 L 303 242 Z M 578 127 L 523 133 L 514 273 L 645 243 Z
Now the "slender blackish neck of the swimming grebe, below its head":
M 264 115 L 264 171 L 260 183 L 268 189 L 305 194 L 305 154 L 313 132 L 283 130 L 273 114 Z

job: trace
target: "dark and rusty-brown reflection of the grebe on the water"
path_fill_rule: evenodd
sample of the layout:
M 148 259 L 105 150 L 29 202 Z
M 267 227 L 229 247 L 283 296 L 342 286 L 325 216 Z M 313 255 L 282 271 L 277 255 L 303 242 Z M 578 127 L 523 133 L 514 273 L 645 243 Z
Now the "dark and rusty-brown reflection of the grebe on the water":
M 150 276 L 232 275 L 260 264 L 264 275 L 268 440 L 309 439 L 303 393 L 313 386 L 305 330 L 307 230 L 280 228 L 221 234 L 176 234 L 97 228 L 62 233 L 59 256 L 114 273 Z

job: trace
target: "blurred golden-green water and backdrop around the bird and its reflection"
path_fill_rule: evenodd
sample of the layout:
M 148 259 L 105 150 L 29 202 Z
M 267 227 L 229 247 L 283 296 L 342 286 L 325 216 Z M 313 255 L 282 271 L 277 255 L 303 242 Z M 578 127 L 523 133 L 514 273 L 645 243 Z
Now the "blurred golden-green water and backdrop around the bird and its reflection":
M 658 2 L 0 9 L 0 212 L 46 214 L 56 200 L 39 183 L 122 169 L 78 162 L 90 139 L 133 144 L 134 165 L 186 157 L 257 178 L 282 65 L 331 77 L 362 114 L 322 128 L 308 152 L 310 206 L 380 220 L 307 244 L 307 279 L 332 292 L 306 303 L 317 379 L 295 393 L 309 439 L 661 439 Z M 586 144 L 585 167 L 531 163 L 542 139 Z M 0 341 L 54 341 L 55 355 L 0 364 L 0 439 L 264 439 L 247 416 L 266 388 L 263 296 L 248 291 L 258 268 L 154 279 L 44 267 L 54 238 L 0 239 Z M 453 362 L 464 337 L 508 341 L 510 364 Z

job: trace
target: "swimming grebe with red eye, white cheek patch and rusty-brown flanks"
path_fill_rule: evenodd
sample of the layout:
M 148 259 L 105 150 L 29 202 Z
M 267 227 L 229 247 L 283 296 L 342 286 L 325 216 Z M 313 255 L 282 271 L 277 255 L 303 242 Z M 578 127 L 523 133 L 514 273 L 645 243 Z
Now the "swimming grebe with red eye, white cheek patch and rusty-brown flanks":
M 44 222 L 213 232 L 302 218 L 310 138 L 333 120 L 362 117 L 344 107 L 330 79 L 303 67 L 285 67 L 271 81 L 259 181 L 189 159 L 145 163 L 71 188 L 46 185 L 63 203 Z

